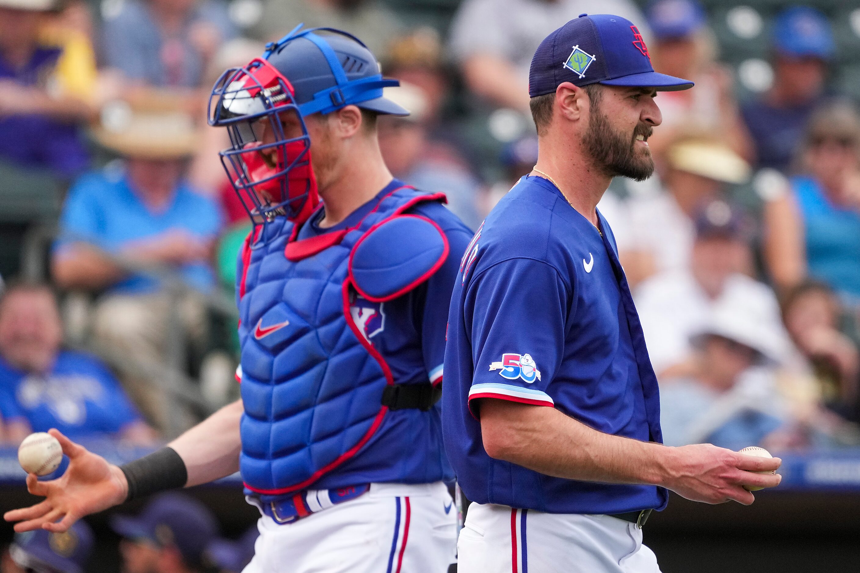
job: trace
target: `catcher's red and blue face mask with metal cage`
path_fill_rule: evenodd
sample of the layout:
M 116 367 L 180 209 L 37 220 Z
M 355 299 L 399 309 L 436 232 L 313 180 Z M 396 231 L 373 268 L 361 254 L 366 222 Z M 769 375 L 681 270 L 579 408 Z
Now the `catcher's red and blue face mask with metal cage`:
M 257 227 L 275 216 L 304 222 L 319 198 L 307 126 L 286 77 L 262 58 L 227 70 L 212 88 L 207 113 L 209 125 L 226 127 L 230 134 L 230 148 L 219 155 L 254 222 L 254 236 L 266 235 Z

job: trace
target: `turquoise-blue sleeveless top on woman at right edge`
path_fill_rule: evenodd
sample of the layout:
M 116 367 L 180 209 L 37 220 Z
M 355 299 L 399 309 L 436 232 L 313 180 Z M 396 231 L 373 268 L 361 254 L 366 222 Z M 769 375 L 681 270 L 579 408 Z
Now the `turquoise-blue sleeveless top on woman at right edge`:
M 812 177 L 791 180 L 803 217 L 809 275 L 860 298 L 860 213 L 827 198 Z

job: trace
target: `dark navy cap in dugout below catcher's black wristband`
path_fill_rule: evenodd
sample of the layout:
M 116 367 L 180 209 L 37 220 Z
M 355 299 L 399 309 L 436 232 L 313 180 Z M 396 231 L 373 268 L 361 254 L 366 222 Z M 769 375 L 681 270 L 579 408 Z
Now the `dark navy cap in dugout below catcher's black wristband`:
M 154 497 L 137 517 L 114 515 L 110 525 L 126 539 L 175 546 L 190 566 L 208 561 L 206 548 L 218 534 L 212 512 L 194 497 L 181 493 Z

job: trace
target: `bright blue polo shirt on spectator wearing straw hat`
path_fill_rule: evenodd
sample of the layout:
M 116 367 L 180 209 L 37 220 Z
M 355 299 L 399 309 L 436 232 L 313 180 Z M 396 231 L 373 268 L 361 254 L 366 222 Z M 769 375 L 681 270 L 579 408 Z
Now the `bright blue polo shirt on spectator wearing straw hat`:
M 195 192 L 181 182 L 173 202 L 162 213 L 152 213 L 132 192 L 126 174 L 108 168 L 83 175 L 69 192 L 60 227 L 58 244 L 62 256 L 65 244 L 86 241 L 108 253 L 118 253 L 129 243 L 154 238 L 173 229 L 181 229 L 209 241 L 221 229 L 220 207 L 210 198 Z M 215 277 L 203 262 L 181 266 L 185 281 L 199 290 L 210 290 Z M 132 275 L 114 284 L 112 292 L 147 293 L 159 287 L 156 279 Z

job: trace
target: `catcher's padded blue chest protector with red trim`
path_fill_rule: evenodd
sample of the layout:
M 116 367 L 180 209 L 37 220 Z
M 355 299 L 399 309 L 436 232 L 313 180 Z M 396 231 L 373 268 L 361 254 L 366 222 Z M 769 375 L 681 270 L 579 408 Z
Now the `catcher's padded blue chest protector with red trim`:
M 279 218 L 249 237 L 238 287 L 249 491 L 306 489 L 360 455 L 384 424 L 384 404 L 401 388 L 350 308 L 359 296 L 402 296 L 439 269 L 444 233 L 403 211 L 444 200 L 401 187 L 351 228 L 296 241 L 298 229 Z

